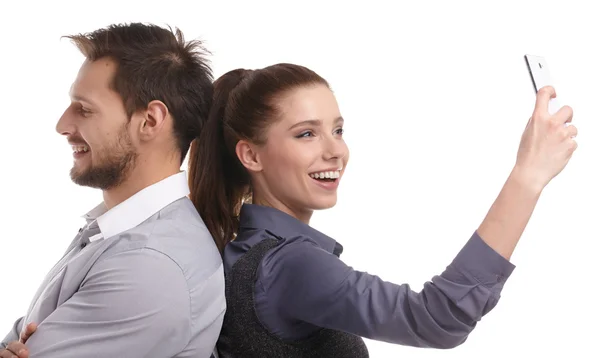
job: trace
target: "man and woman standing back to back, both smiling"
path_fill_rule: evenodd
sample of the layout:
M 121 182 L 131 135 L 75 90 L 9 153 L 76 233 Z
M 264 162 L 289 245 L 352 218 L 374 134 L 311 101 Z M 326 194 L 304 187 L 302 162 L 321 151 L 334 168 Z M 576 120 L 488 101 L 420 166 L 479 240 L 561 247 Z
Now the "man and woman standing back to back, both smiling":
M 362 337 L 456 347 L 498 303 L 541 192 L 577 146 L 572 110 L 550 115 L 543 88 L 484 221 L 415 292 L 353 270 L 309 225 L 335 205 L 349 159 L 325 79 L 277 64 L 213 84 L 201 43 L 155 25 L 70 38 L 86 59 L 56 129 L 73 147 L 72 180 L 104 200 L 0 358 L 210 357 L 215 346 L 368 357 Z

